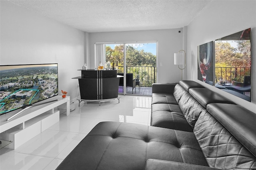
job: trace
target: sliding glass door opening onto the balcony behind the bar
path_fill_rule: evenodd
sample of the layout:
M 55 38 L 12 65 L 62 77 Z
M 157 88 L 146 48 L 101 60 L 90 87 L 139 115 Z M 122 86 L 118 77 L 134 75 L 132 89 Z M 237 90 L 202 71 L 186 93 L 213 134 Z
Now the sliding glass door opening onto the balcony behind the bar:
M 118 69 L 119 93 L 151 95 L 157 81 L 157 42 L 106 43 L 104 68 Z

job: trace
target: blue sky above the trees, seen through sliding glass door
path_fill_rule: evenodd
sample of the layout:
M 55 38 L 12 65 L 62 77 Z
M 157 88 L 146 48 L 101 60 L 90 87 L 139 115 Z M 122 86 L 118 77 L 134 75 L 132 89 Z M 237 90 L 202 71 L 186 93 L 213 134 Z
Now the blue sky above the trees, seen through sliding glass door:
M 120 44 L 106 44 L 106 45 L 114 49 L 115 45 L 120 45 Z M 145 52 L 150 52 L 153 55 L 156 55 L 156 43 L 131 43 L 126 45 L 132 45 L 134 48 L 138 50 L 144 49 Z

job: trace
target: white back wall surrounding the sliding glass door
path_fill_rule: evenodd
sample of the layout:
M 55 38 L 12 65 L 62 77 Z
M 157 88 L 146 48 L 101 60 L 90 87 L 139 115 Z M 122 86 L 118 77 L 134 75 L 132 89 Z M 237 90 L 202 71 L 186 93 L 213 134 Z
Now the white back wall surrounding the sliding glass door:
M 181 31 L 179 33 L 178 31 Z M 158 41 L 158 83 L 174 83 L 181 71 L 174 65 L 174 53 L 183 47 L 183 29 L 89 33 L 89 68 L 94 69 L 94 43 Z M 160 62 L 163 66 L 160 66 Z

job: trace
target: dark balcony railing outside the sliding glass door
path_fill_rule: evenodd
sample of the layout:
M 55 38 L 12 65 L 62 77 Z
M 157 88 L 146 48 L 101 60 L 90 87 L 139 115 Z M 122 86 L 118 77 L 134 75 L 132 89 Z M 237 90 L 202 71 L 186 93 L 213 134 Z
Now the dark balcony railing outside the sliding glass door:
M 118 66 L 118 73 L 124 73 L 124 66 Z M 133 73 L 133 78 L 140 80 L 142 87 L 152 87 L 156 83 L 155 66 L 126 66 L 126 73 Z

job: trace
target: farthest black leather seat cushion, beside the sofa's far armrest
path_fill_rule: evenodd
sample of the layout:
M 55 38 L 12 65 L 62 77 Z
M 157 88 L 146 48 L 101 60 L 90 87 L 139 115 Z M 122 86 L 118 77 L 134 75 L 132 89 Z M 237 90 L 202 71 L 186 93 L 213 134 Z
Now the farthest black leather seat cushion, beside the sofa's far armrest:
M 152 93 L 152 104 L 166 103 L 178 105 L 172 93 Z

